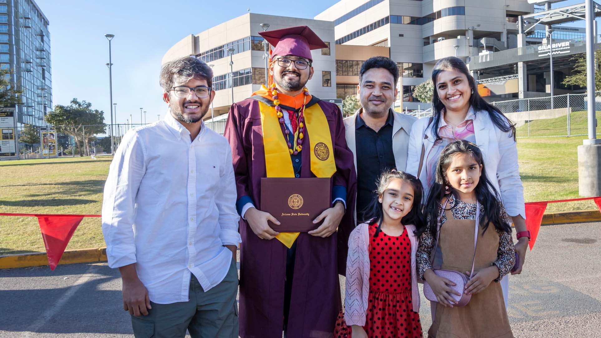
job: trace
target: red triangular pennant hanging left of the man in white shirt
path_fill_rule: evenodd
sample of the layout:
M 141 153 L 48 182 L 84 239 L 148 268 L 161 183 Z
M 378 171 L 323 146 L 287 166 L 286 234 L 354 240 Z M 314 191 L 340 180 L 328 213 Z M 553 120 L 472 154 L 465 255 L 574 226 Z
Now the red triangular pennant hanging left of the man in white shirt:
M 65 248 L 73 232 L 77 229 L 83 216 L 37 216 L 40 223 L 41 237 L 44 238 L 46 255 L 50 270 L 54 271 L 61 260 Z

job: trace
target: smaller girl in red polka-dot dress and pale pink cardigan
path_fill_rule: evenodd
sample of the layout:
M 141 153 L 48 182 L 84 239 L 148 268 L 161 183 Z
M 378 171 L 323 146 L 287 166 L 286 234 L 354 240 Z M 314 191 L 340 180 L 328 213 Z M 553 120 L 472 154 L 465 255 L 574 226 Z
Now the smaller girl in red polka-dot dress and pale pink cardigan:
M 414 234 L 423 222 L 421 183 L 402 171 L 385 172 L 377 195 L 369 221 L 349 237 L 344 315 L 334 337 L 423 337 Z

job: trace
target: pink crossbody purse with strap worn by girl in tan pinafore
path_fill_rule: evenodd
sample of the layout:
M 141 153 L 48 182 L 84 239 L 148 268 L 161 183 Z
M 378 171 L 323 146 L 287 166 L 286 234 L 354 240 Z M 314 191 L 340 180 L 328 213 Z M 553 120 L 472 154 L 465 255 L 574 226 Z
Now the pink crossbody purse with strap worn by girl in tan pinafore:
M 447 202 L 448 202 L 448 198 L 447 198 L 447 201 L 445 201 L 445 204 L 442 206 L 441 214 L 438 216 L 438 219 L 436 220 L 436 244 L 434 246 L 434 256 L 430 260 L 431 265 L 433 264 L 433 262 L 436 258 L 436 252 L 438 251 L 437 248 L 438 248 L 438 239 L 441 235 L 442 213 L 445 212 L 445 207 L 447 207 Z M 466 295 L 463 291 L 465 291 L 465 285 L 468 283 L 468 280 L 470 280 L 472 277 L 474 277 L 474 264 L 476 261 L 476 245 L 478 243 L 478 220 L 479 219 L 480 219 L 480 203 L 477 202 L 477 204 L 476 204 L 476 222 L 475 222 L 475 229 L 474 229 L 474 260 L 472 261 L 472 272 L 469 274 L 469 277 L 466 277 L 465 274 L 462 274 L 462 273 L 454 271 L 454 270 L 432 269 L 432 271 L 434 271 L 436 276 L 446 278 L 446 279 L 450 280 L 451 282 L 455 283 L 454 286 L 448 285 L 451 289 L 453 289 L 454 291 L 457 291 L 457 293 L 461 294 L 460 296 L 451 294 L 451 297 L 455 301 L 454 306 L 465 306 L 466 304 L 469 303 L 469 300 L 472 298 L 472 295 Z M 425 281 L 424 281 L 424 296 L 426 297 L 427 300 L 438 303 L 438 300 L 436 299 L 436 295 L 432 291 L 432 288 L 430 287 L 428 282 L 425 282 Z

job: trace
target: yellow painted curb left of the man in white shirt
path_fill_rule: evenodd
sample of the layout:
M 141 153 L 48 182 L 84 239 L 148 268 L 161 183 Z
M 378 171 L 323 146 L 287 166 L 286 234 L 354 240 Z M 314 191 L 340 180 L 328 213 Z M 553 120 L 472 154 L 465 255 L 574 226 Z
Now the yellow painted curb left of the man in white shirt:
M 65 250 L 58 264 L 106 262 L 106 247 Z M 40 267 L 48 265 L 45 252 L 17 253 L 0 256 L 0 269 Z

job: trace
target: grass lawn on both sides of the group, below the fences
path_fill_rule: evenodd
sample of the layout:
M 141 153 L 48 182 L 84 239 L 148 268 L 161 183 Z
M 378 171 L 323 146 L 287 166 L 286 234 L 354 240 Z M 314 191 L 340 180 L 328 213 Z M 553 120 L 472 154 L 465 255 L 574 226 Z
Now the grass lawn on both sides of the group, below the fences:
M 534 123 L 534 122 L 533 122 Z M 518 136 L 523 130 L 518 131 Z M 580 137 L 517 140 L 526 202 L 578 198 Z M 112 157 L 0 161 L 3 213 L 100 214 Z M 596 209 L 593 201 L 549 204 L 547 212 Z M 99 218 L 85 218 L 67 249 L 104 245 Z M 44 252 L 35 217 L 0 216 L 0 255 Z

